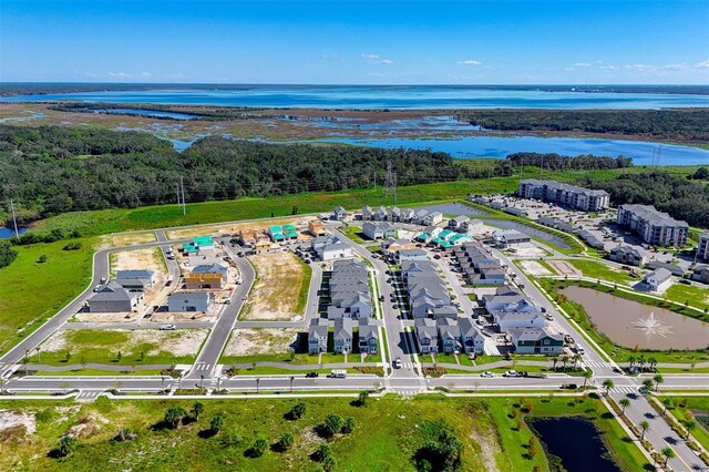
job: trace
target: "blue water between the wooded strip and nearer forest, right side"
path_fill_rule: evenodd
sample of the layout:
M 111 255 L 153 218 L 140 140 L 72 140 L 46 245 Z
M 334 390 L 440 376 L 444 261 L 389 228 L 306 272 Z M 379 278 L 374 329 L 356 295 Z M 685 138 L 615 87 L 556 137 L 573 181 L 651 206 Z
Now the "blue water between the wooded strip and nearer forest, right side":
M 709 151 L 699 147 L 659 145 L 643 141 L 598 140 L 580 137 L 535 137 L 535 136 L 464 136 L 451 140 L 414 138 L 357 138 L 335 137 L 320 140 L 357 146 L 383 148 L 407 147 L 414 150 L 442 151 L 453 157 L 499 157 L 518 152 L 557 153 L 562 155 L 594 154 L 616 157 L 620 154 L 633 157 L 635 165 L 650 165 L 653 154 L 659 151 L 659 165 L 707 165 Z M 660 151 L 661 150 L 661 151 Z

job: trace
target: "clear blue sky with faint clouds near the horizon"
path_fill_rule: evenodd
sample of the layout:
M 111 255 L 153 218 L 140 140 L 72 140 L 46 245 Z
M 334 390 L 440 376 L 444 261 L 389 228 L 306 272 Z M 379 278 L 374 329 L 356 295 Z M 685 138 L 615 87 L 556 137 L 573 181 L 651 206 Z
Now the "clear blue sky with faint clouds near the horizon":
M 2 0 L 0 81 L 709 84 L 709 0 Z

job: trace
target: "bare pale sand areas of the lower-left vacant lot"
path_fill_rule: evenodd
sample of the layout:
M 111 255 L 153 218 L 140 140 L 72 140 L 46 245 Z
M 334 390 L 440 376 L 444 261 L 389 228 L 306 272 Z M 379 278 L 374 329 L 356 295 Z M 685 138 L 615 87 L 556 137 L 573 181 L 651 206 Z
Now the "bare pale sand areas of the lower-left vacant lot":
M 121 348 L 125 353 L 131 353 L 138 349 L 141 345 L 152 345 L 153 348 L 145 351 L 146 356 L 156 356 L 160 352 L 171 352 L 175 356 L 189 356 L 199 350 L 209 332 L 208 329 L 179 329 L 176 331 L 160 331 L 157 329 L 119 330 L 106 329 L 100 332 L 121 332 L 127 336 L 127 340 L 111 343 L 72 343 L 73 330 L 54 332 L 41 346 L 43 352 L 65 352 L 68 350 L 79 351 L 81 349 L 113 349 Z M 100 336 L 100 335 L 97 335 Z

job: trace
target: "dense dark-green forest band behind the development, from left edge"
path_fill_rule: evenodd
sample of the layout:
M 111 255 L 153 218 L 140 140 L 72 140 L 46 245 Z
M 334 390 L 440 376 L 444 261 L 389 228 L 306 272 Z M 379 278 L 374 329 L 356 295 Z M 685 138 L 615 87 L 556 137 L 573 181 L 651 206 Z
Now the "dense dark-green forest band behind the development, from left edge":
M 178 153 L 147 133 L 0 126 L 0 201 L 20 223 L 73 211 L 459 179 L 446 153 L 204 137 Z

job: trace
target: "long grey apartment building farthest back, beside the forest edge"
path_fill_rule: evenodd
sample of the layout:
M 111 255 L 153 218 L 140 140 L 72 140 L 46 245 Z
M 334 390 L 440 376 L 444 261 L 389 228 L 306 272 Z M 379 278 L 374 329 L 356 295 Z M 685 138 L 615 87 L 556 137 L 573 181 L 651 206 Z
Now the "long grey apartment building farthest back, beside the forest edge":
M 606 191 L 592 191 L 555 181 L 524 179 L 520 182 L 518 194 L 524 198 L 553 202 L 584 212 L 598 212 L 610 205 L 610 196 Z

